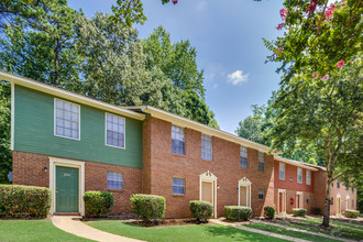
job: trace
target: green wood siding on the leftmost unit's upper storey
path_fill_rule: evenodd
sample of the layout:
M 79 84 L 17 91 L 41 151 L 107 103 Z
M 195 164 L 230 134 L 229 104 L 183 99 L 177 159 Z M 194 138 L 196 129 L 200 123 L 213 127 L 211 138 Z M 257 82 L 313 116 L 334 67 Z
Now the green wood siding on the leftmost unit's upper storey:
M 80 140 L 54 135 L 54 96 L 15 85 L 14 150 L 142 168 L 142 121 L 125 118 L 125 148 L 106 145 L 105 111 L 80 105 Z

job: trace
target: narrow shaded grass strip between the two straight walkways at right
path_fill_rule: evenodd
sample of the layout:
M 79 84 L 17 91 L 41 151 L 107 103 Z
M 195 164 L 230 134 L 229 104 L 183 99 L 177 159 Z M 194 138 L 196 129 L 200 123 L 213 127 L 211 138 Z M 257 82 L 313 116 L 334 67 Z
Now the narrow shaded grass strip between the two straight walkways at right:
M 304 232 L 292 231 L 292 230 L 278 228 L 275 226 L 264 224 L 264 223 L 251 223 L 251 224 L 244 224 L 244 226 L 249 227 L 249 228 L 257 229 L 257 230 L 264 230 L 264 231 L 284 234 L 287 237 L 299 238 L 299 239 L 308 240 L 308 241 L 338 241 L 338 240 L 331 240 L 331 239 L 323 238 L 323 237 L 307 234 Z

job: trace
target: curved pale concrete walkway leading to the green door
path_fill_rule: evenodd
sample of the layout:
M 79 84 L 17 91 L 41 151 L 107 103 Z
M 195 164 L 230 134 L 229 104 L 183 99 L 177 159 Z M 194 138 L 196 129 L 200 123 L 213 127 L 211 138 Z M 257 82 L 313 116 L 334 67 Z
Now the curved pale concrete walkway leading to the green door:
M 107 241 L 107 242 L 140 242 L 141 240 L 135 240 L 127 237 L 120 237 L 112 233 L 103 232 L 101 230 L 95 229 L 92 227 L 86 226 L 80 220 L 80 217 L 73 216 L 53 216 L 52 222 L 55 227 L 64 230 L 68 233 L 73 233 L 77 237 L 82 237 L 94 241 Z

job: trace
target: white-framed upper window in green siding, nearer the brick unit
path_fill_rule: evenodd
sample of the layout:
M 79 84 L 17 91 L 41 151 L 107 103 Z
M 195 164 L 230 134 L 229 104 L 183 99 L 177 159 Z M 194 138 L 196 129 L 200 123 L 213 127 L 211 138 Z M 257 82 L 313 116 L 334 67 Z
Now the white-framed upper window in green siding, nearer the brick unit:
M 124 118 L 106 113 L 106 145 L 124 148 Z

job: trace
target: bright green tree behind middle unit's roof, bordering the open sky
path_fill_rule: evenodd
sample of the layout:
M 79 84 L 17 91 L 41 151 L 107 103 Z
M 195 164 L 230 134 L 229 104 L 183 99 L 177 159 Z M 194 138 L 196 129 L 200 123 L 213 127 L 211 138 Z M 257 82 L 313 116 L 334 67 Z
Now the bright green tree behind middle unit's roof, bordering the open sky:
M 173 44 L 169 33 L 158 26 L 142 43 L 146 68 L 150 72 L 161 72 L 162 78 L 173 84 L 173 90 L 162 91 L 178 94 L 175 99 L 169 99 L 170 106 L 165 110 L 219 129 L 215 114 L 205 100 L 204 72 L 198 70 L 197 52 L 190 42 Z M 167 97 L 166 94 L 163 96 Z

